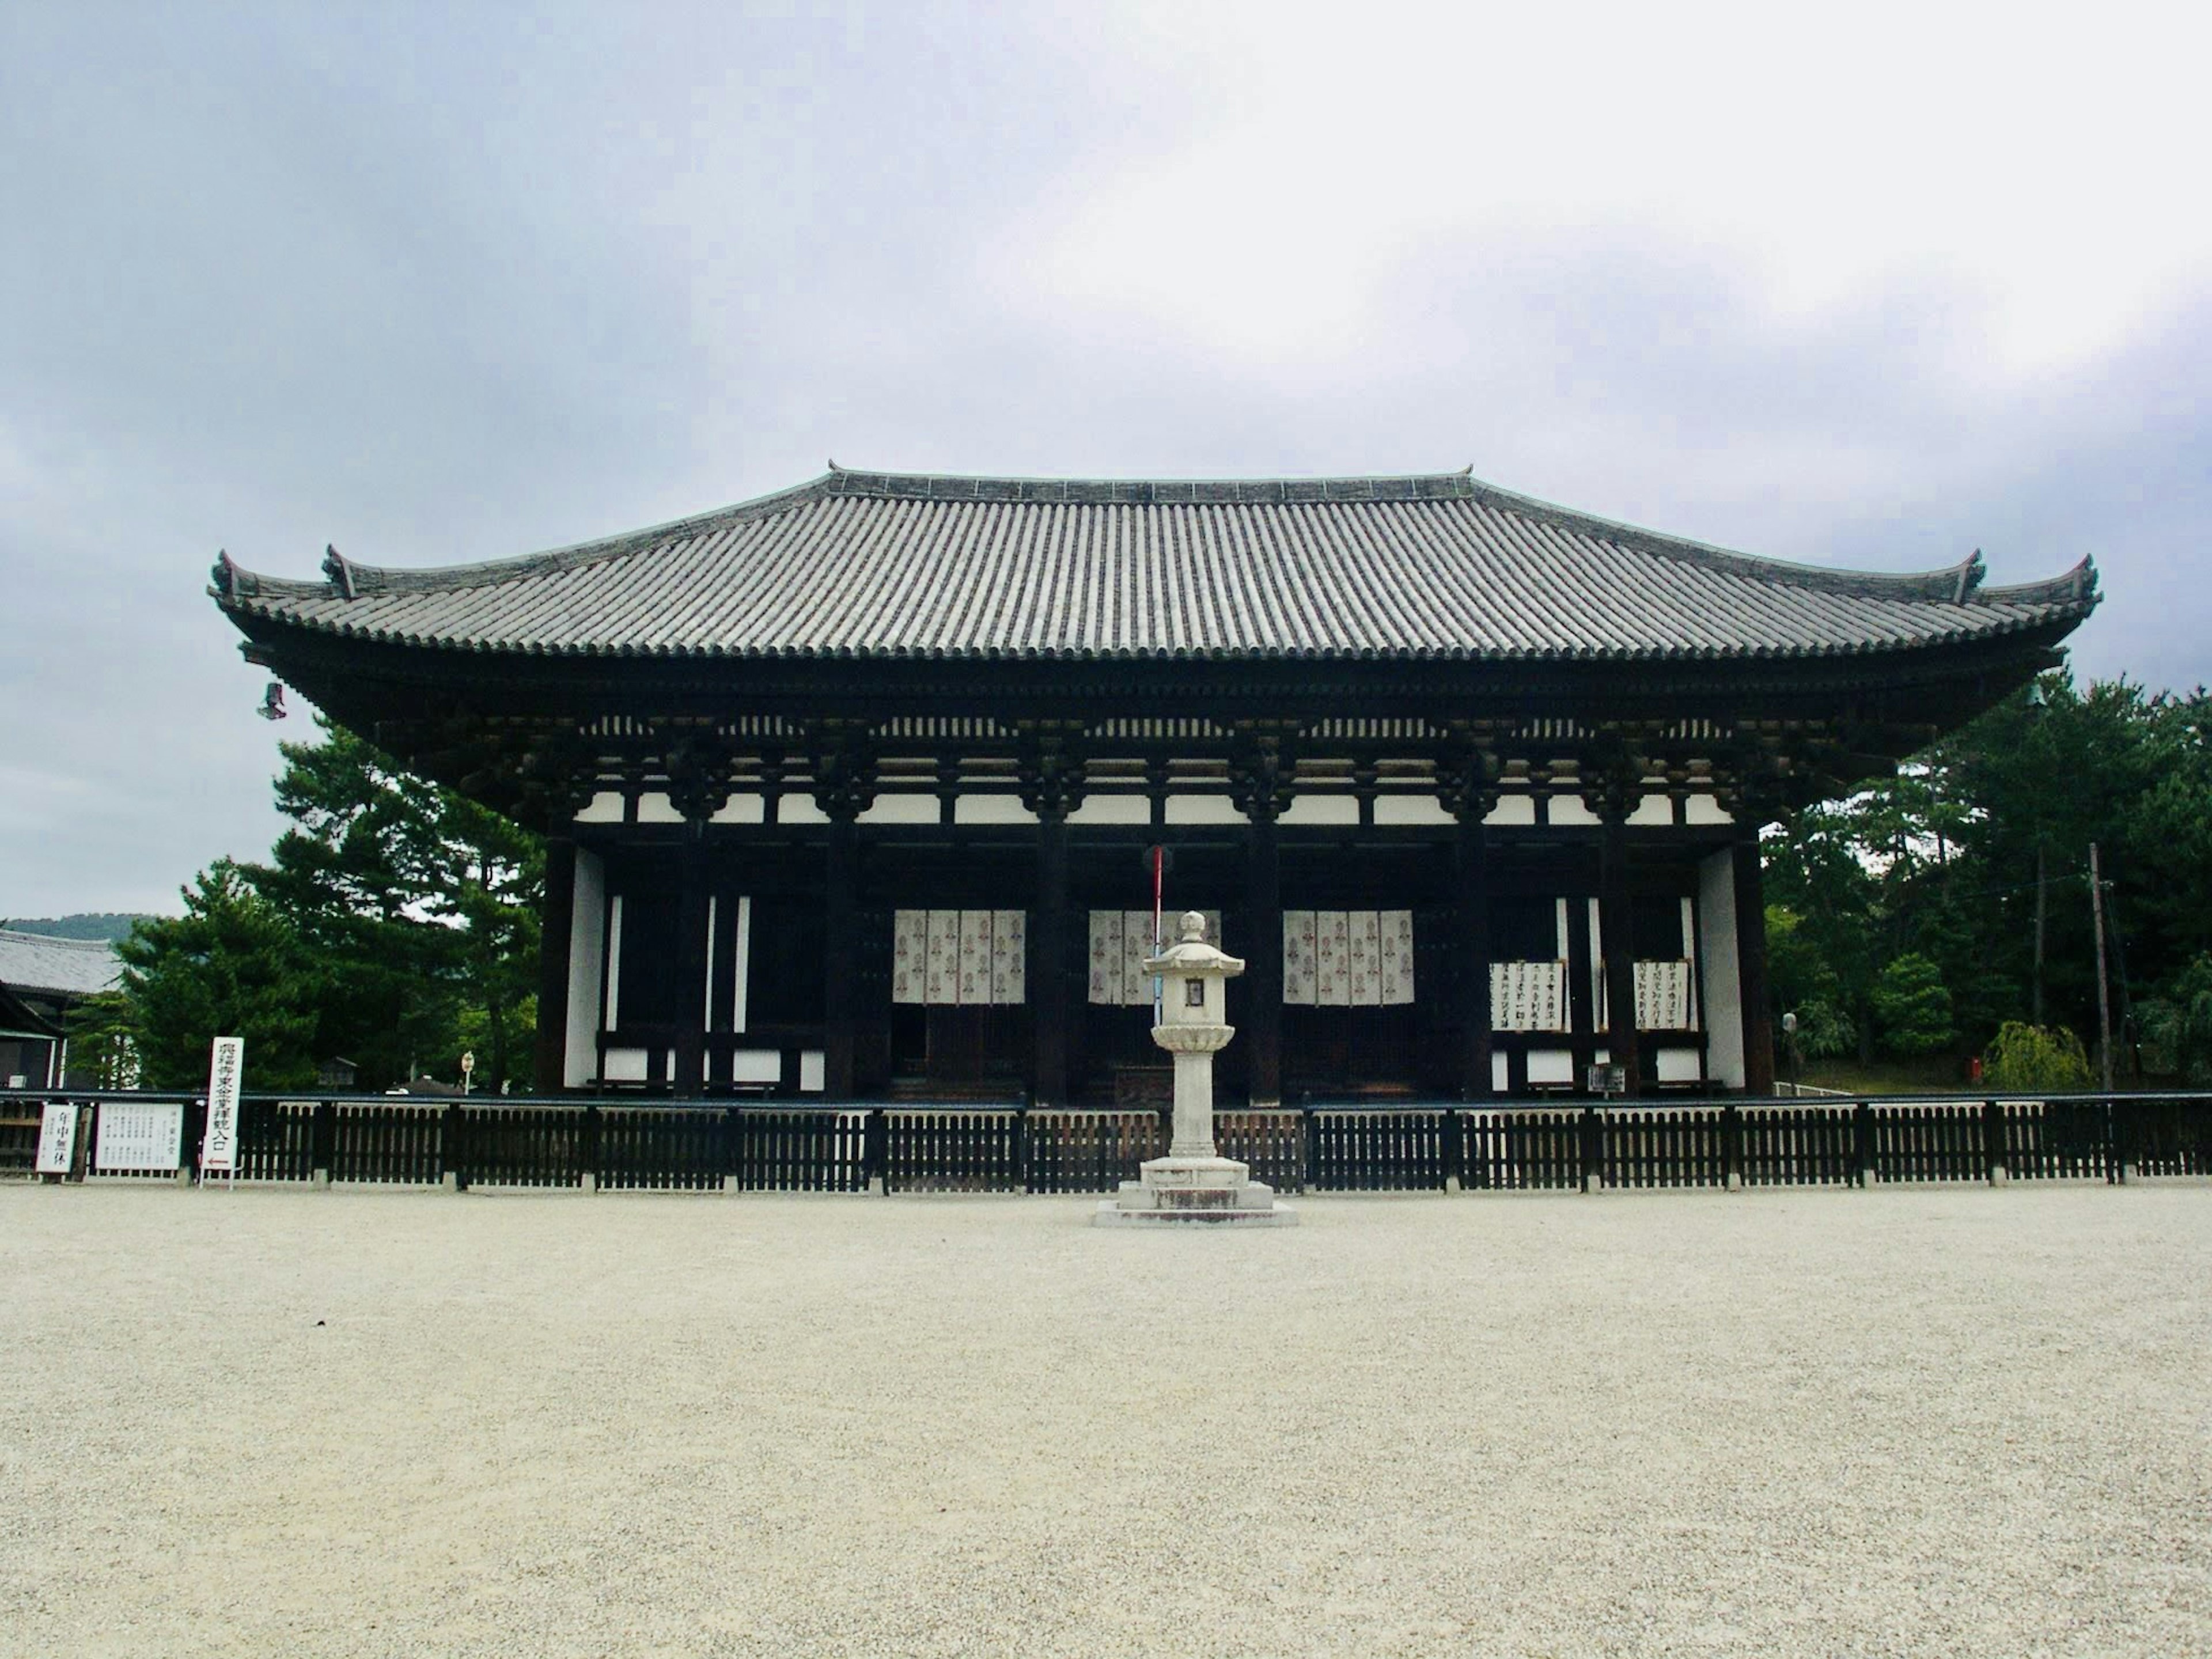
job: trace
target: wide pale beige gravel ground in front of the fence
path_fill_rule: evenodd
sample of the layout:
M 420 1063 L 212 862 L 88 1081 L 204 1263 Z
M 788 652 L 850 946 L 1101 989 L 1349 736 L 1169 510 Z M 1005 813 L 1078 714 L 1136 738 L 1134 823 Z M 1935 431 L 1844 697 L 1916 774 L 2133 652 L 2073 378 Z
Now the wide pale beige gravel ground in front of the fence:
M 4 1655 L 2212 1655 L 2212 1190 L 0 1188 Z

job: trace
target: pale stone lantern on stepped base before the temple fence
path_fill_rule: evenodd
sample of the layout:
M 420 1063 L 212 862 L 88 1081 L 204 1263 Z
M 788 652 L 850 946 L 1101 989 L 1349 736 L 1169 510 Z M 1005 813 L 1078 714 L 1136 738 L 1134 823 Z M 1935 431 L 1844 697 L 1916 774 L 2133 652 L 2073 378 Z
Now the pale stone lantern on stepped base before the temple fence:
M 1159 1024 L 1152 1042 L 1175 1055 L 1175 1135 L 1168 1157 L 1144 1166 L 1141 1181 L 1124 1181 L 1121 1197 L 1097 1208 L 1097 1225 L 1241 1223 L 1294 1225 L 1296 1212 L 1274 1188 L 1214 1148 L 1214 1055 L 1237 1029 L 1223 1022 L 1228 982 L 1243 960 L 1206 942 L 1206 918 L 1186 909 L 1181 938 L 1146 960 L 1161 980 Z

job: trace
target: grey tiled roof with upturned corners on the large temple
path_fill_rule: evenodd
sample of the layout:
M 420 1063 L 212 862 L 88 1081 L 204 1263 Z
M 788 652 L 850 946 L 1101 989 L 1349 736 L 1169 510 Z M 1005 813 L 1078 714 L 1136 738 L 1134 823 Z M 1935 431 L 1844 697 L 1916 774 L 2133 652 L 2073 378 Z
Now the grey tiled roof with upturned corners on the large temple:
M 832 467 L 555 553 L 217 599 L 358 639 L 619 657 L 1825 657 L 2073 626 L 2095 568 L 1982 584 L 1783 564 L 1482 484 L 1086 482 Z

